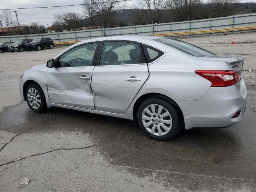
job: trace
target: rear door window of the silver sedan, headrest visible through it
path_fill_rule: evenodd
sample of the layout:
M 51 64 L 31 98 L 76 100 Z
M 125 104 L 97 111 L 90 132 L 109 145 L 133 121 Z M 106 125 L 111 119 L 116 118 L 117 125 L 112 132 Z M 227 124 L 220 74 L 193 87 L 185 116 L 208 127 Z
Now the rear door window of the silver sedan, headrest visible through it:
M 100 65 L 145 63 L 140 45 L 130 42 L 104 42 Z

